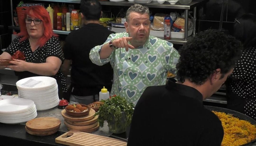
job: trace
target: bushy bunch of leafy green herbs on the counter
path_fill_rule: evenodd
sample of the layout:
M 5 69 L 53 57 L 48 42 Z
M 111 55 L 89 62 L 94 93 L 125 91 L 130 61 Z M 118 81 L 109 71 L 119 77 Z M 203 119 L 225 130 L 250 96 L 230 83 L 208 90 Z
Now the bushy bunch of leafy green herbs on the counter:
M 107 120 L 108 125 L 115 120 L 115 127 L 123 125 L 129 126 L 132 121 L 133 103 L 130 103 L 120 96 L 112 96 L 110 99 L 101 100 L 104 104 L 99 108 L 96 115 L 99 115 L 98 122 L 100 127 L 103 127 L 104 120 Z M 125 121 L 121 121 L 122 112 L 125 113 Z M 123 123 L 125 122 L 125 123 Z M 115 128 L 117 130 L 117 128 Z

